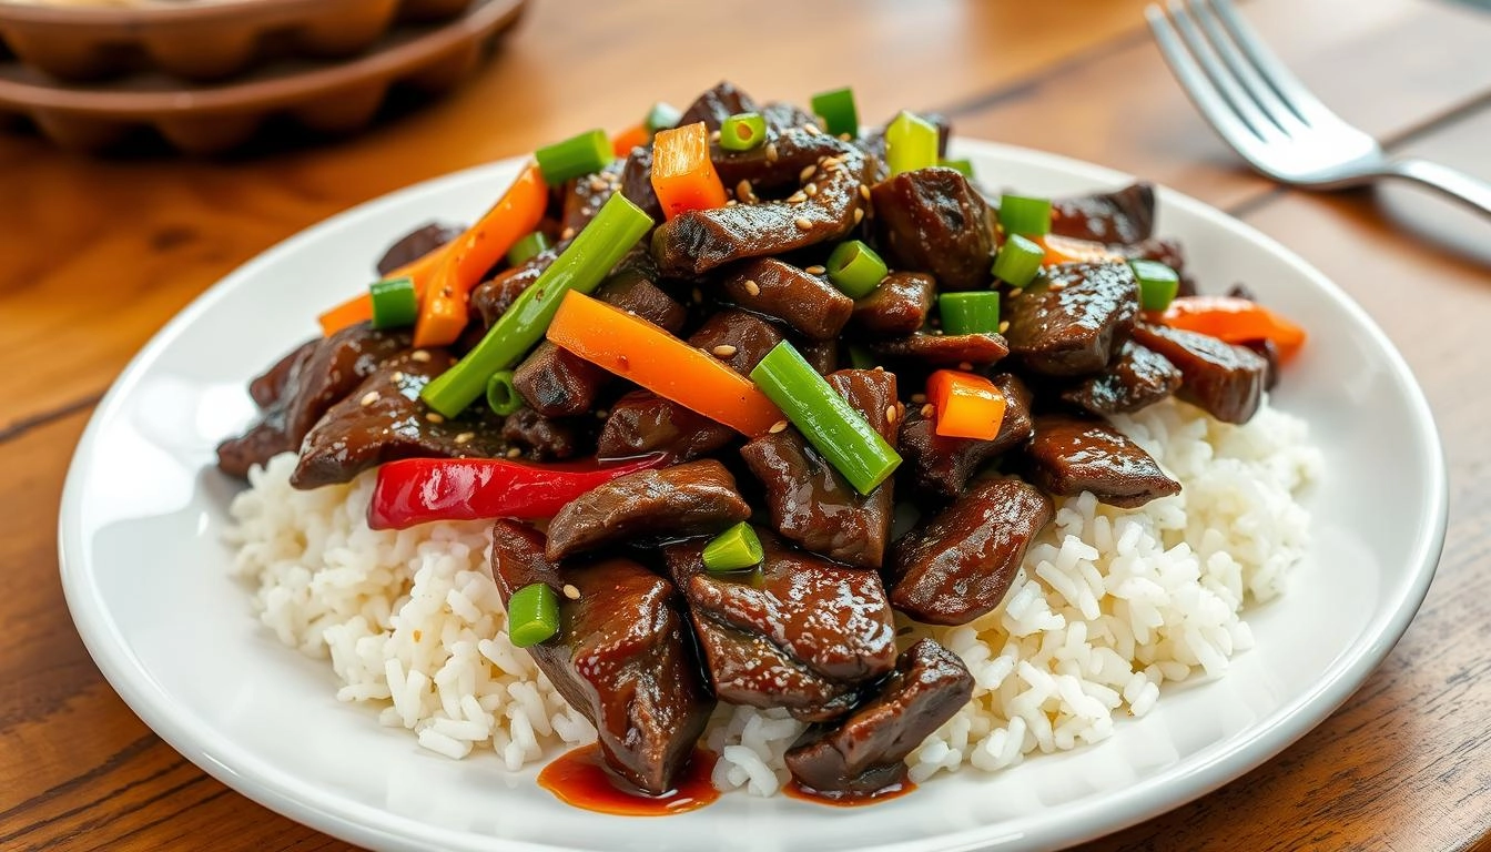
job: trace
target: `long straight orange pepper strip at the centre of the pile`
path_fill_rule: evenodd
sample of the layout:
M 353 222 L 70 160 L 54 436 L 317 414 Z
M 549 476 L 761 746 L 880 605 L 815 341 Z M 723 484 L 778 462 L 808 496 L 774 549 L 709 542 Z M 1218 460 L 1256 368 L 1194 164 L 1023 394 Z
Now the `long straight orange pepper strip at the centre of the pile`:
M 763 434 L 784 419 L 760 388 L 719 358 L 581 292 L 559 303 L 549 340 L 741 434 Z

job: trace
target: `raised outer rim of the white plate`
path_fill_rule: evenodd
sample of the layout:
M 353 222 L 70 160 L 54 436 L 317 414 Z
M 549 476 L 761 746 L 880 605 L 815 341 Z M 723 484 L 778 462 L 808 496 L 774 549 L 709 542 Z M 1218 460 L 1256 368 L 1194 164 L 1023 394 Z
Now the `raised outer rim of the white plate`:
M 1121 185 L 1126 181 L 1136 181 L 1135 176 L 1124 172 L 1021 146 L 966 137 L 954 137 L 953 146 L 963 151 L 978 151 L 981 155 L 1015 164 L 1059 170 L 1093 184 Z M 280 263 L 282 255 L 294 252 L 303 243 L 321 239 L 325 231 L 352 227 L 365 218 L 376 216 L 386 207 L 417 203 L 419 197 L 444 192 L 452 184 L 501 175 L 504 170 L 514 169 L 522 160 L 517 157 L 485 163 L 379 195 L 322 219 L 236 267 L 167 321 L 130 360 L 89 418 L 75 448 L 64 480 L 58 513 L 58 566 L 63 592 L 73 624 L 110 688 L 157 736 L 207 774 L 289 819 L 368 848 L 400 851 L 458 848 L 468 845 L 471 834 L 422 824 L 409 816 L 389 813 L 334 794 L 322 795 L 316 788 L 298 782 L 292 773 L 261 761 L 245 749 L 213 749 L 230 755 L 236 754 L 239 759 L 233 759 L 233 765 L 210 754 L 203 745 L 204 724 L 189 713 L 171 712 L 170 694 L 152 680 L 143 663 L 127 651 L 127 645 L 119 642 L 122 636 L 118 625 L 109 618 L 107 607 L 98 594 L 100 589 L 86 582 L 88 571 L 81 567 L 83 558 L 78 555 L 85 549 L 79 522 L 81 492 L 88 473 L 83 461 L 104 422 L 113 416 L 128 391 L 139 382 L 158 354 L 171 345 L 200 315 L 239 286 L 240 279 L 252 276 L 264 266 Z M 1159 184 L 1156 184 L 1156 189 L 1161 204 L 1187 207 L 1188 213 L 1206 219 L 1209 225 L 1266 248 L 1276 258 L 1309 278 L 1312 285 L 1320 288 L 1337 309 L 1349 313 L 1369 334 L 1384 354 L 1385 364 L 1396 382 L 1408 391 L 1412 407 L 1409 422 L 1424 433 L 1425 440 L 1415 442 L 1413 449 L 1415 455 L 1419 457 L 1418 461 L 1422 463 L 1425 492 L 1430 497 L 1430 503 L 1421 513 L 1421 519 L 1427 522 L 1415 525 L 1415 534 L 1408 548 L 1410 554 L 1408 567 L 1412 568 L 1409 582 L 1400 586 L 1402 592 L 1396 595 L 1396 600 L 1391 600 L 1393 606 L 1379 607 L 1366 624 L 1364 634 L 1370 640 L 1355 642 L 1346 648 L 1339 658 L 1331 661 L 1311 689 L 1294 695 L 1249 725 L 1251 733 L 1246 736 L 1206 746 L 1176 765 L 1145 777 L 1117 794 L 1065 804 L 1065 818 L 1056 827 L 1042 831 L 1039 837 L 1026 836 L 1027 842 L 1039 839 L 1042 843 L 1068 846 L 1136 825 L 1242 777 L 1312 731 L 1361 688 L 1402 639 L 1428 594 L 1448 530 L 1449 482 L 1439 427 L 1410 367 L 1372 316 L 1339 285 L 1273 237 L 1191 195 Z M 1170 788 L 1182 779 L 1185 780 L 1184 789 L 1181 795 L 1175 795 Z M 1114 818 L 1115 812 L 1117 818 Z M 413 834 L 410 834 L 412 830 Z M 874 851 L 971 852 L 989 843 L 999 843 L 1006 839 L 1006 834 L 1009 833 L 1000 833 L 1000 825 L 996 824 L 942 834 L 930 839 L 932 845 L 923 839 L 883 845 Z M 486 840 L 489 845 L 495 843 L 497 848 L 511 852 L 556 852 L 564 849 L 528 840 L 491 837 Z

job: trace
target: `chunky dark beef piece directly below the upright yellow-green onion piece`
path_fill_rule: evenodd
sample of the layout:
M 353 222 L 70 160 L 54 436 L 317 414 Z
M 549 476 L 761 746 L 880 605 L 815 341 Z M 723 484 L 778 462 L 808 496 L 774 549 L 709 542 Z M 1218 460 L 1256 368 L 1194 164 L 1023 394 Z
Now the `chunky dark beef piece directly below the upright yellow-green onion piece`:
M 892 269 L 927 272 L 942 289 L 989 286 L 989 204 L 959 172 L 902 172 L 871 189 L 875 236 Z

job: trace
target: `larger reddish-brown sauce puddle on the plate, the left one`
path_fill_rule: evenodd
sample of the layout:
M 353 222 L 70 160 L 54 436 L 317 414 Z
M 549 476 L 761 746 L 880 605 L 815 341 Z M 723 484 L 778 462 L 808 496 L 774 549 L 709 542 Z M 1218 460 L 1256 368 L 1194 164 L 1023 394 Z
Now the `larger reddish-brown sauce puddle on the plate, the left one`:
M 710 783 L 714 754 L 693 749 L 693 758 L 678 776 L 678 785 L 649 795 L 605 768 L 601 746 L 589 745 L 565 752 L 538 773 L 538 786 L 559 801 L 617 816 L 669 816 L 710 804 L 720 792 Z

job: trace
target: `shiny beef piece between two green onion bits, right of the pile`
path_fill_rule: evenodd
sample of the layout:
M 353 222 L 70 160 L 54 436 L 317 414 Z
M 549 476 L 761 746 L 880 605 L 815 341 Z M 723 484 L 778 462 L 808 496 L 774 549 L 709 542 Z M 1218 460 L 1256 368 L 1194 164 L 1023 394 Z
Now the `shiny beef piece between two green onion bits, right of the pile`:
M 1003 300 L 1009 352 L 1032 373 L 1082 376 L 1108 366 L 1139 315 L 1126 263 L 1069 263 Z

